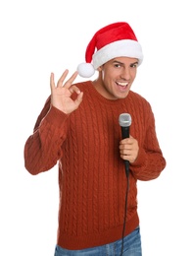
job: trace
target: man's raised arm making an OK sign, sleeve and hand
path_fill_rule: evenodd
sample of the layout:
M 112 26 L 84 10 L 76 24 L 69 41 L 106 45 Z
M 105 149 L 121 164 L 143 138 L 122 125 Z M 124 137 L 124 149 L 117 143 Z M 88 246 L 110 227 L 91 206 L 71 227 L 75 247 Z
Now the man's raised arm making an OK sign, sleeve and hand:
M 31 174 L 52 168 L 63 156 L 61 146 L 67 138 L 68 117 L 79 106 L 83 96 L 72 86 L 77 73 L 64 84 L 67 74 L 66 70 L 57 86 L 54 74 L 51 74 L 51 96 L 37 118 L 33 134 L 25 142 L 24 166 Z M 74 100 L 73 93 L 77 95 Z

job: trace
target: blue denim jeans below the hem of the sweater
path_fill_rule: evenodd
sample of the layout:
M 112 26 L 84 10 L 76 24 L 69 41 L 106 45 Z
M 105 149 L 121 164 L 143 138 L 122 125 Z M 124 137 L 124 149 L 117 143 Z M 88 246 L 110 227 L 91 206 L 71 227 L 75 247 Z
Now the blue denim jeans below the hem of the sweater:
M 122 254 L 121 243 L 122 240 L 120 239 L 106 245 L 83 250 L 67 250 L 56 245 L 54 256 L 141 256 L 141 235 L 139 226 L 124 237 Z

